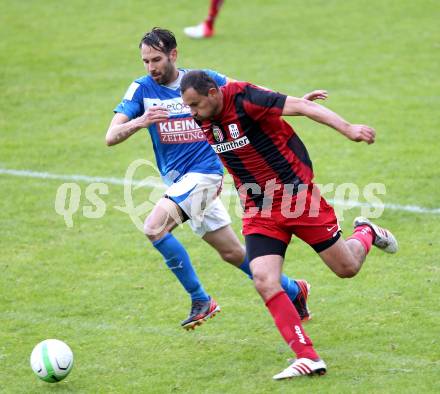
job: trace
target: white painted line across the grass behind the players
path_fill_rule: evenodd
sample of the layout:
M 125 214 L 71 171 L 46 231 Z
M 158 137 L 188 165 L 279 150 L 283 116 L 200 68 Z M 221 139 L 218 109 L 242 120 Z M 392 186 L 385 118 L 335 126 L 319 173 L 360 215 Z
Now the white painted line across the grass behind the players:
M 10 175 L 16 177 L 25 177 L 25 178 L 38 178 L 38 179 L 54 179 L 60 180 L 64 182 L 102 182 L 111 185 L 133 185 L 137 187 L 147 187 L 147 188 L 162 188 L 165 190 L 165 185 L 162 182 L 152 181 L 152 180 L 126 180 L 124 178 L 106 178 L 106 177 L 96 177 L 96 176 L 88 176 L 88 175 L 66 175 L 66 174 L 51 174 L 49 172 L 37 172 L 37 171 L 29 171 L 29 170 L 13 170 L 7 168 L 0 168 L 0 175 Z M 235 196 L 235 190 L 224 190 L 224 194 Z M 378 204 L 367 204 L 358 201 L 352 200 L 333 200 L 327 199 L 328 202 L 332 204 L 338 204 L 342 206 L 350 206 L 350 207 L 370 207 L 370 208 L 381 208 L 382 205 Z M 402 211 L 402 212 L 411 212 L 411 213 L 428 213 L 434 215 L 440 215 L 440 208 L 426 208 L 418 205 L 401 205 L 394 203 L 385 203 L 383 205 L 385 209 L 393 210 L 393 211 Z

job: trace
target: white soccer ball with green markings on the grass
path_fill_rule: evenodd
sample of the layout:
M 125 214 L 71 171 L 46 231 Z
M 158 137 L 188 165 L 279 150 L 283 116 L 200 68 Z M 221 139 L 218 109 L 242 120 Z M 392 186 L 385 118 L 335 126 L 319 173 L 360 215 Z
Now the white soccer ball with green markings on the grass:
M 32 350 L 31 367 L 41 380 L 59 382 L 73 367 L 72 350 L 63 341 L 46 339 Z

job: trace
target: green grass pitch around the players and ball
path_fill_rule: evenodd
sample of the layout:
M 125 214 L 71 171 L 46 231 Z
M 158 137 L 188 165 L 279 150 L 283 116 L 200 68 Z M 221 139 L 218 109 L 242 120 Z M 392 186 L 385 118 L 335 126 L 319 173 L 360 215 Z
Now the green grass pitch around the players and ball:
M 217 35 L 184 37 L 207 0 L 3 2 L 0 12 L 0 172 L 123 178 L 152 159 L 147 133 L 108 148 L 112 109 L 144 73 L 137 49 L 153 26 L 173 30 L 179 65 L 206 67 L 292 95 L 327 89 L 326 105 L 377 130 L 360 145 L 289 119 L 319 183 L 383 183 L 400 251 L 373 250 L 361 273 L 338 279 L 301 242 L 285 272 L 312 284 L 306 330 L 328 364 L 322 378 L 274 382 L 291 357 L 252 283 L 187 227 L 176 231 L 222 312 L 194 332 L 189 300 L 159 254 L 115 209 L 79 210 L 66 227 L 54 209 L 61 179 L 0 173 L 1 393 L 435 393 L 439 392 L 440 8 L 432 0 L 229 1 Z M 148 189 L 135 192 L 139 204 Z M 435 211 L 437 209 L 437 211 Z M 431 211 L 429 211 L 431 210 Z M 344 212 L 345 234 L 359 208 Z M 234 229 L 240 220 L 234 216 Z M 56 385 L 29 366 L 34 345 L 67 342 L 71 374 Z

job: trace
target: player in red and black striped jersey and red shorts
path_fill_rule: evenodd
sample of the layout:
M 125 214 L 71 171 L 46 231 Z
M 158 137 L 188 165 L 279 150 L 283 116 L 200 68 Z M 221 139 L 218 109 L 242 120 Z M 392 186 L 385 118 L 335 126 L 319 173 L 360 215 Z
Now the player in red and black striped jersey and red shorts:
M 297 311 L 280 287 L 292 235 L 309 244 L 339 277 L 356 275 L 372 245 L 397 251 L 389 230 L 366 218 L 354 222 L 346 240 L 333 208 L 313 183 L 304 144 L 282 115 L 307 116 L 348 139 L 372 144 L 375 131 L 350 124 L 329 109 L 246 82 L 217 87 L 202 71 L 187 73 L 182 98 L 232 175 L 244 202 L 243 234 L 258 293 L 296 360 L 274 379 L 324 374 L 326 365 L 304 332 Z

